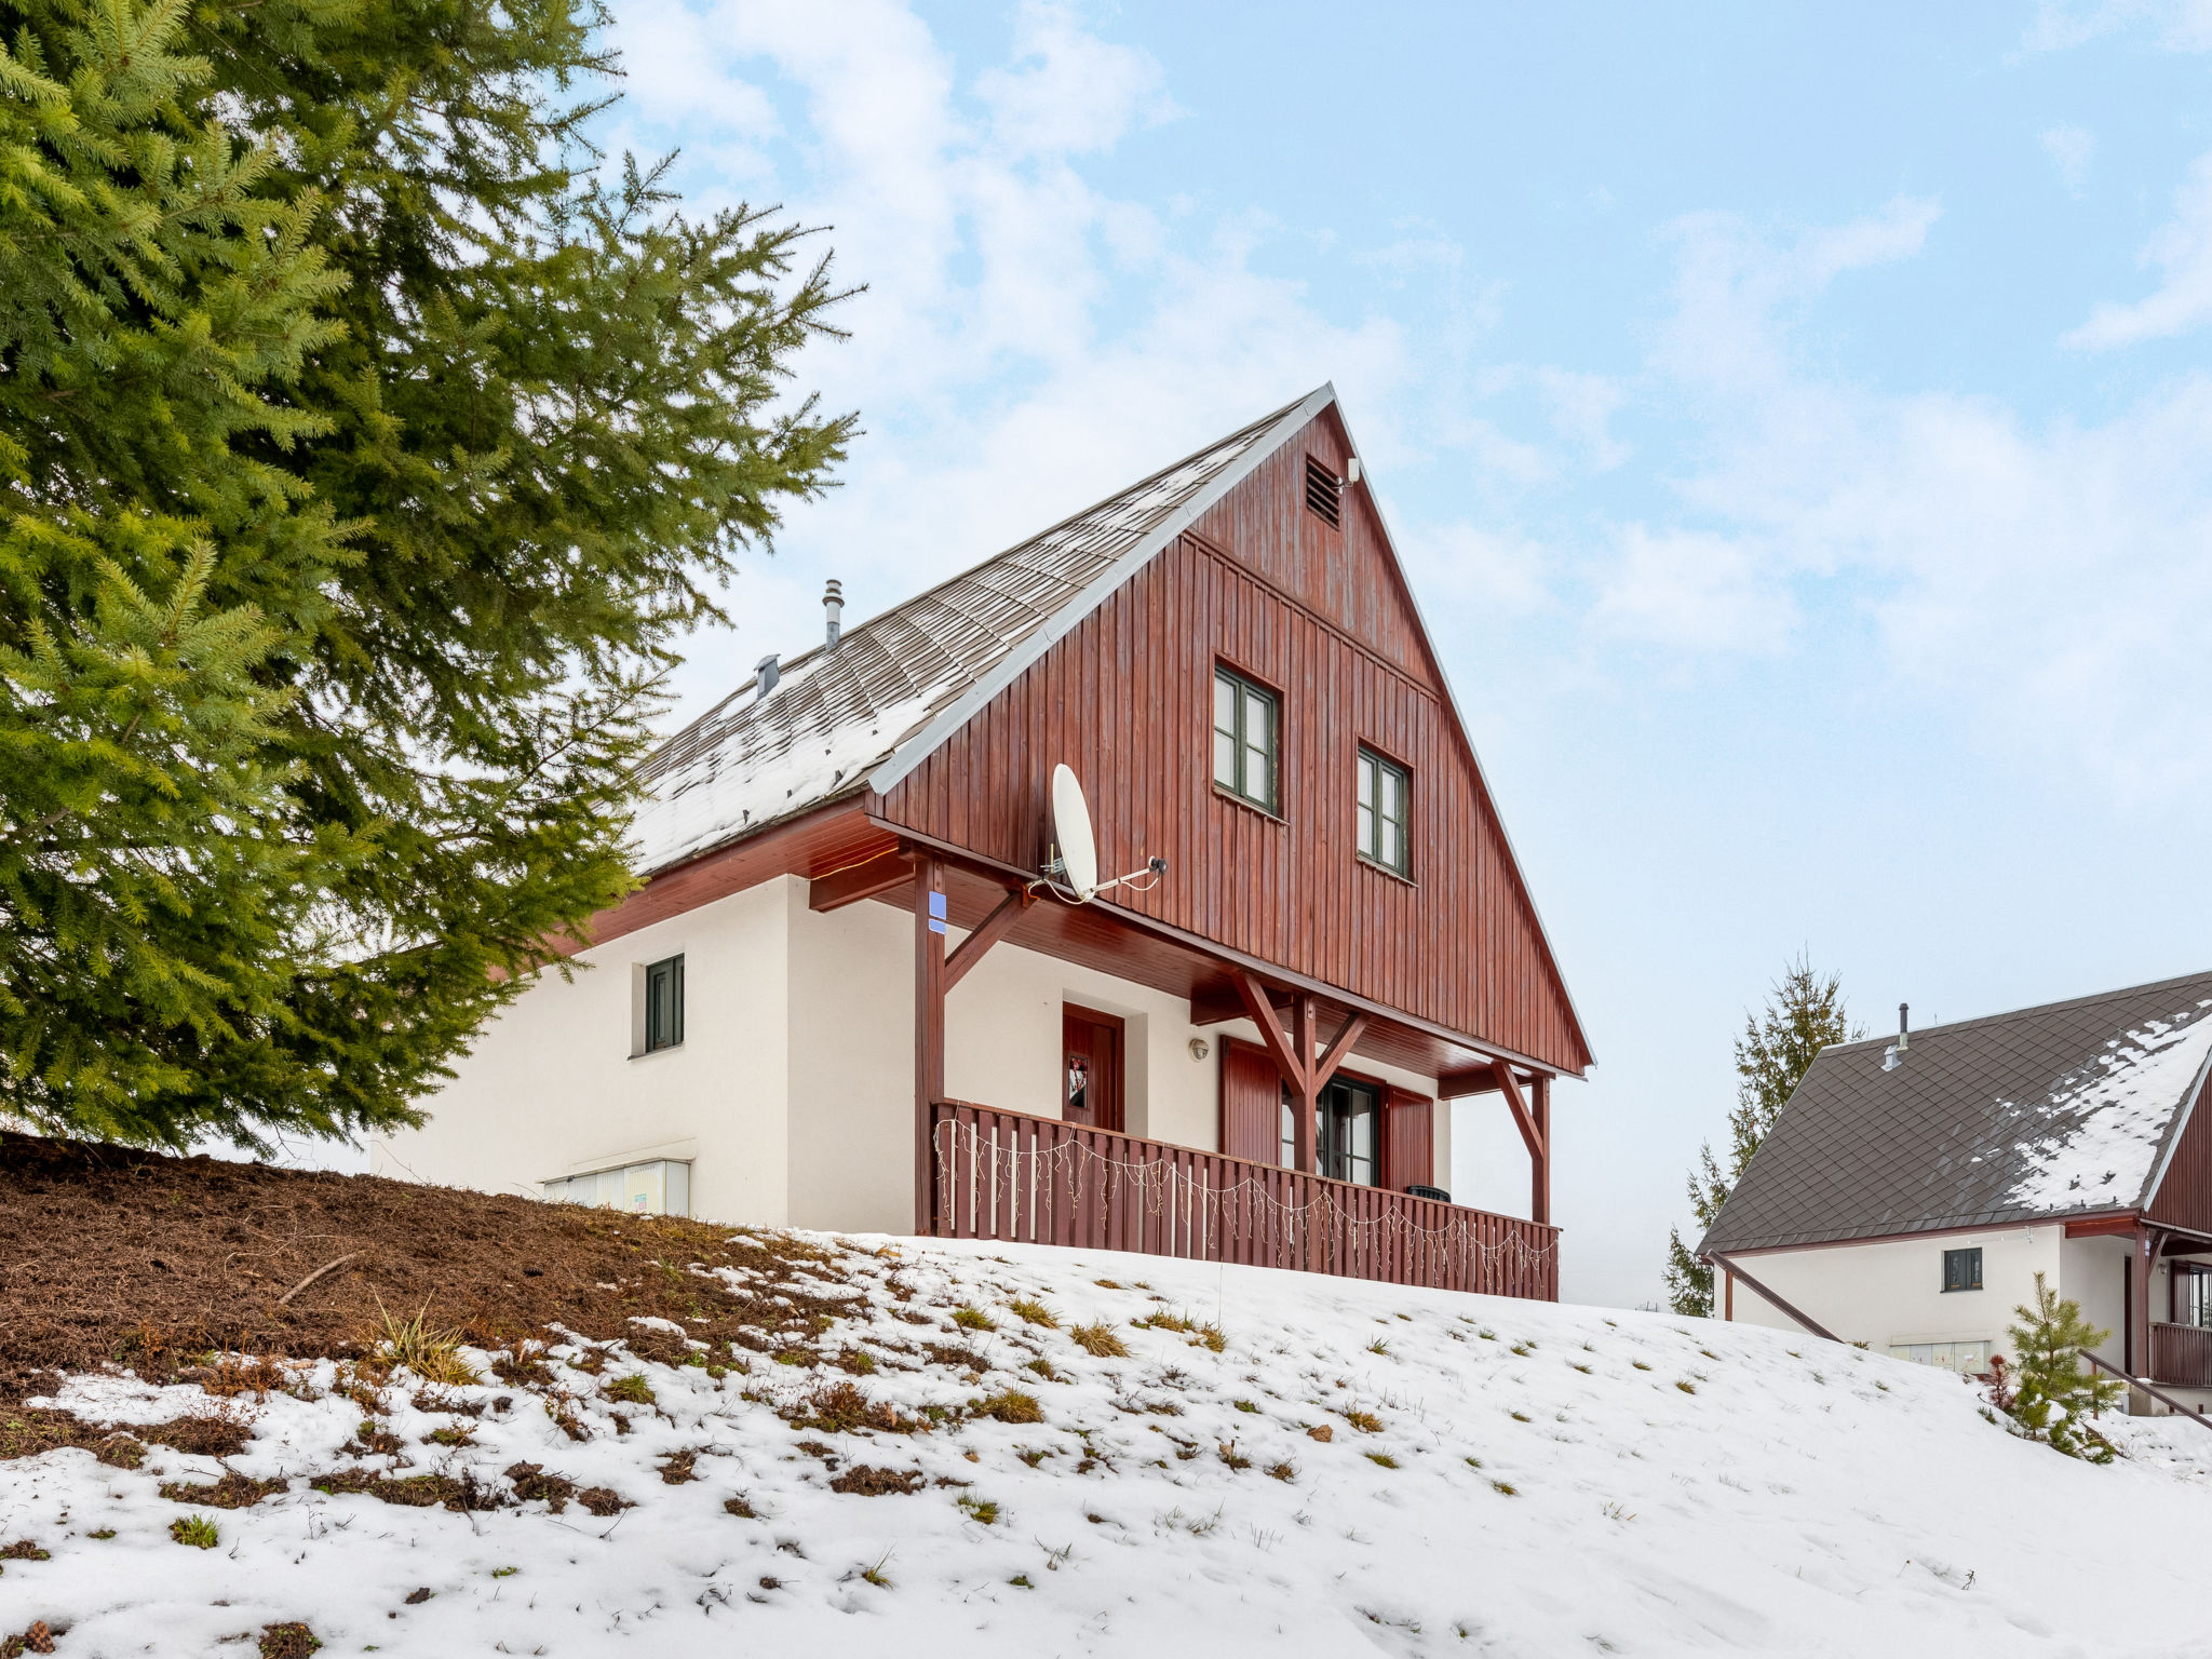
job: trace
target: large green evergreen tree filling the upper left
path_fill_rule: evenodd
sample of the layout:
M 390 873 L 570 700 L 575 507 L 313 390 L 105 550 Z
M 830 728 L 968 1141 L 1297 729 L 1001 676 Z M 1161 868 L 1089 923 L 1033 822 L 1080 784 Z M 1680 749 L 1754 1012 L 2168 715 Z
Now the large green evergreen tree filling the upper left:
M 849 418 L 602 181 L 575 0 L 0 0 L 0 1115 L 409 1099 L 628 887 L 670 644 Z

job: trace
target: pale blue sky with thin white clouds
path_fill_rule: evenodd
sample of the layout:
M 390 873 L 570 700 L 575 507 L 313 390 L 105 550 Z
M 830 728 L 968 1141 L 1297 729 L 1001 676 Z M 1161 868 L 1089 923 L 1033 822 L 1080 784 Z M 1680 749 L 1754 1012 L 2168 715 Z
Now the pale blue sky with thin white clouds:
M 1798 949 L 1916 1024 L 2203 969 L 2212 4 L 615 0 L 602 137 L 830 226 L 863 414 L 684 708 L 1329 378 L 1657 1296 Z M 1520 1201 L 1462 1108 L 1455 1190 Z

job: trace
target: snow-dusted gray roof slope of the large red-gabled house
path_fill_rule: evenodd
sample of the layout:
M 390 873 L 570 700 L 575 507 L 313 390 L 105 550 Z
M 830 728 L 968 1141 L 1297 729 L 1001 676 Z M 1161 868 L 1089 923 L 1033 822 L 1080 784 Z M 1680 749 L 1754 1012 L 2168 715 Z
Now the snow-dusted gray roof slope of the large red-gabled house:
M 1256 465 L 1327 387 L 1232 431 L 1075 518 L 794 657 L 768 697 L 745 681 L 644 768 L 633 869 L 650 876 L 865 787 L 927 754 L 1073 622 Z M 1287 429 L 1281 434 L 1287 436 Z M 1276 436 L 1276 442 L 1281 440 Z M 1124 568 L 1126 566 L 1126 568 Z M 1029 648 L 1029 650 L 1024 650 Z

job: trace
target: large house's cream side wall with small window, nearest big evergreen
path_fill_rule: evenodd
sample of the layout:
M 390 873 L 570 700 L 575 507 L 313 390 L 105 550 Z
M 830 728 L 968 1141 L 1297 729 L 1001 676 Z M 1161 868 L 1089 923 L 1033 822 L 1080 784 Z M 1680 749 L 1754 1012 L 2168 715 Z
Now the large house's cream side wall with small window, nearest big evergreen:
M 560 1177 L 681 1159 L 695 1214 L 785 1223 L 787 909 L 770 883 L 593 947 L 573 978 L 540 971 L 420 1102 L 429 1121 L 372 1141 L 369 1168 L 535 1197 Z M 679 953 L 684 1042 L 633 1053 L 641 971 Z

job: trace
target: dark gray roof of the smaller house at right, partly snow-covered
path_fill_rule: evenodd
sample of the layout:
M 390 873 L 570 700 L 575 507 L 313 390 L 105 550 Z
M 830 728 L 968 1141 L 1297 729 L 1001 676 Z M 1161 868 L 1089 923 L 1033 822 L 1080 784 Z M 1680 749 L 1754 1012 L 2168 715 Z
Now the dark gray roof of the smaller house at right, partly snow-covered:
M 2148 1201 L 2212 1057 L 2212 973 L 1823 1048 L 1699 1245 L 1880 1239 Z

